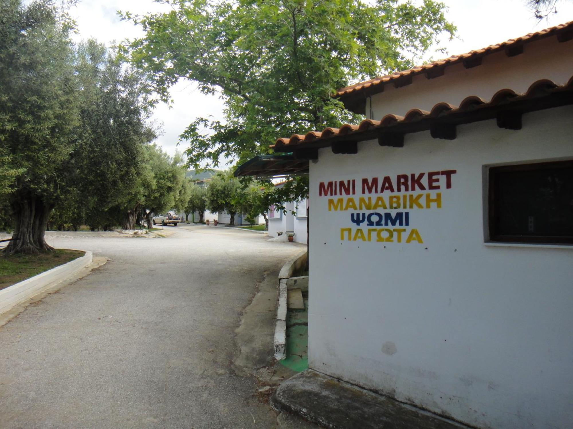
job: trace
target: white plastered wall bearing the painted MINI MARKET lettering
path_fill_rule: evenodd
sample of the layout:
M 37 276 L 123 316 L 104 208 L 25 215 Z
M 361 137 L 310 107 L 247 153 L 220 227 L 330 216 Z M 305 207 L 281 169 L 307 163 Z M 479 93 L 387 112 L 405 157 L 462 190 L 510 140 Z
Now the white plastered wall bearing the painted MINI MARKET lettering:
M 573 158 L 571 118 L 567 106 L 525 114 L 519 131 L 492 120 L 453 141 L 420 132 L 403 148 L 320 149 L 309 367 L 478 427 L 573 427 L 573 247 L 484 244 L 482 170 Z M 447 169 L 442 208 L 410 210 L 423 244 L 341 241 L 354 210 L 319 197 L 321 181 L 356 179 L 358 197 L 364 177 Z

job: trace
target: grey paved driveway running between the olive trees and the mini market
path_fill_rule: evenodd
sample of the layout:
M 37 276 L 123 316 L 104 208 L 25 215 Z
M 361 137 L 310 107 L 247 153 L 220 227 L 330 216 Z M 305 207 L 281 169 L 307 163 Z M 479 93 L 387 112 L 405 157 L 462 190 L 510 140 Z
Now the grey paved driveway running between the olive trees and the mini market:
M 276 426 L 254 380 L 231 371 L 234 331 L 256 281 L 300 247 L 183 225 L 47 236 L 111 261 L 0 328 L 0 427 Z

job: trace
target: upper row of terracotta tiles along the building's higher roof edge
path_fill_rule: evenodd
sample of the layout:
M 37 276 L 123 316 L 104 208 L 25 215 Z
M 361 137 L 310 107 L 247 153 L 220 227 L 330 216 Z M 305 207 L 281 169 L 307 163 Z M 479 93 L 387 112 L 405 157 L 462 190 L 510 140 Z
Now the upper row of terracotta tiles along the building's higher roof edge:
M 490 45 L 490 46 L 484 47 L 482 49 L 472 50 L 472 51 L 469 51 L 465 54 L 452 55 L 449 58 L 445 58 L 445 59 L 442 59 L 440 61 L 435 61 L 435 62 L 424 64 L 421 66 L 417 66 L 417 67 L 414 67 L 413 69 L 402 70 L 401 72 L 391 73 L 391 74 L 388 74 L 387 76 L 376 77 L 376 78 L 371 79 L 371 80 L 366 81 L 366 82 L 359 82 L 358 84 L 355 84 L 355 85 L 346 86 L 346 88 L 341 88 L 341 89 L 337 90 L 335 97 L 348 97 L 350 95 L 354 95 L 355 93 L 359 93 L 360 91 L 365 90 L 367 88 L 372 89 L 375 86 L 384 85 L 387 82 L 397 80 L 397 79 L 405 77 L 405 76 L 409 76 L 412 74 L 424 73 L 430 69 L 433 69 L 433 70 L 441 69 L 441 68 L 444 68 L 446 66 L 450 66 L 450 65 L 462 62 L 462 61 L 464 61 L 464 59 L 468 59 L 472 56 L 477 57 L 477 56 L 484 56 L 484 55 L 492 54 L 492 53 L 497 52 L 499 50 L 507 49 L 508 47 L 511 47 L 512 45 L 517 45 L 518 43 L 532 42 L 532 41 L 535 41 L 537 39 L 555 34 L 558 31 L 567 31 L 567 30 L 572 30 L 572 29 L 573 29 L 573 21 L 566 22 L 564 24 L 560 24 L 560 25 L 550 27 L 550 28 L 547 28 L 544 30 L 536 31 L 535 33 L 526 34 L 526 35 L 518 37 L 516 39 L 509 39 L 503 43 L 497 43 L 496 45 Z

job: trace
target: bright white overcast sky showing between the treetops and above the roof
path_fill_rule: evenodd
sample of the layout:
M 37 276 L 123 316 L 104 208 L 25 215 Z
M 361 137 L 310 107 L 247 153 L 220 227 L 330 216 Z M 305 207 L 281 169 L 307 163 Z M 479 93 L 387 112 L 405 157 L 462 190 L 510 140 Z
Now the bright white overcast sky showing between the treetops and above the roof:
M 415 0 L 414 3 L 421 3 Z M 448 11 L 446 18 L 457 27 L 457 37 L 453 41 L 444 40 L 439 47 L 445 47 L 447 55 L 429 53 L 433 59 L 461 54 L 480 49 L 507 39 L 538 31 L 546 27 L 573 21 L 573 1 L 561 0 L 558 13 L 547 19 L 537 21 L 533 13 L 525 6 L 525 0 L 442 0 Z M 130 22 L 120 21 L 116 10 L 127 10 L 132 14 L 143 15 L 153 11 L 166 10 L 152 0 L 80 0 L 70 10 L 76 19 L 79 34 L 75 41 L 95 37 L 98 41 L 111 45 L 112 41 L 141 37 L 143 31 Z M 355 82 L 351 82 L 355 83 Z M 169 154 L 185 149 L 185 143 L 177 146 L 178 136 L 196 117 L 211 117 L 223 120 L 223 102 L 217 96 L 205 96 L 197 90 L 195 84 L 180 81 L 171 88 L 174 103 L 171 109 L 160 104 L 154 112 L 154 120 L 163 124 L 163 135 L 158 144 Z M 305 132 L 307 130 L 293 130 Z

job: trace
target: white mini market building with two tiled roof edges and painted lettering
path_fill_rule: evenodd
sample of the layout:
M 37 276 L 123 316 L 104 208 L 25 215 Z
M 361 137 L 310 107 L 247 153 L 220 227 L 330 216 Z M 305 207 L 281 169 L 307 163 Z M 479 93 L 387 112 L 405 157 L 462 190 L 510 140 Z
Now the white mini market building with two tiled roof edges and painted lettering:
M 274 146 L 312 160 L 309 367 L 573 427 L 572 23 L 337 95 L 368 119 Z

